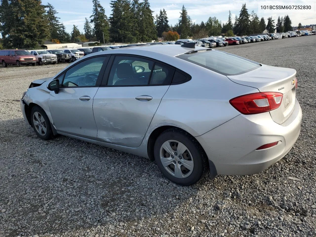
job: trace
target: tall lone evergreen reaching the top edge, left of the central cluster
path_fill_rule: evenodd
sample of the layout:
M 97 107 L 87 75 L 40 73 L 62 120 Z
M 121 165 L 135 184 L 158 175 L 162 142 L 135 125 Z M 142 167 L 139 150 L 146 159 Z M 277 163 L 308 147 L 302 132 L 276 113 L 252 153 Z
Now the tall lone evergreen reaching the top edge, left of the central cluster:
M 109 23 L 107 21 L 107 16 L 105 15 L 105 10 L 101 6 L 99 0 L 92 0 L 93 10 L 90 16 L 90 23 L 94 24 L 94 35 L 96 39 L 100 42 L 109 42 Z

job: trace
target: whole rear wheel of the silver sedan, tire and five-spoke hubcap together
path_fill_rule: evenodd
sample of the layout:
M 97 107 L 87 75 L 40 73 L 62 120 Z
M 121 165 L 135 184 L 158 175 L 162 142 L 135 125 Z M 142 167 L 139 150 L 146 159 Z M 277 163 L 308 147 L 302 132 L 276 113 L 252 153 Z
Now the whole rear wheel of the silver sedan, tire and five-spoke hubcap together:
M 201 146 L 190 134 L 168 129 L 155 141 L 154 156 L 160 171 L 172 182 L 189 186 L 204 177 L 207 162 Z

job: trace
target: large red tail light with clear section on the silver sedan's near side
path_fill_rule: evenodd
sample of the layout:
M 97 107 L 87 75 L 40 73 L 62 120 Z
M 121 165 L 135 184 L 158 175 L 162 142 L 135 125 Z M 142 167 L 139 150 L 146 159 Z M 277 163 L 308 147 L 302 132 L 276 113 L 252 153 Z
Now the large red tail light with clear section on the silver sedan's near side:
M 256 114 L 277 109 L 283 94 L 278 92 L 259 92 L 238 96 L 229 103 L 242 114 Z

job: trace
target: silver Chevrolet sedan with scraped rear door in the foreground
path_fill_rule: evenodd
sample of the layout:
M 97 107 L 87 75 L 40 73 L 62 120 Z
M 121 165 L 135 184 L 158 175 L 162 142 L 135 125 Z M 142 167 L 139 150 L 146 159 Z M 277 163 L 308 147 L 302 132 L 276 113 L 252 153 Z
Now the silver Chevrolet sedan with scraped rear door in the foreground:
M 147 157 L 179 185 L 259 173 L 297 140 L 296 71 L 195 43 L 108 50 L 35 80 L 21 111 L 57 134 Z

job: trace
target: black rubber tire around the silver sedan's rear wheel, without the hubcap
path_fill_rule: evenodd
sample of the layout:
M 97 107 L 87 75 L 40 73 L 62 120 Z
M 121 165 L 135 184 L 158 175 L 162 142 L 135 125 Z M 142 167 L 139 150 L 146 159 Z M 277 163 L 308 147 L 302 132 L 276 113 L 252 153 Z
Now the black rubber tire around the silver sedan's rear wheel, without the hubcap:
M 194 167 L 192 173 L 188 177 L 177 178 L 170 174 L 162 165 L 160 159 L 160 149 L 162 144 L 168 140 L 176 140 L 180 143 L 183 143 L 191 152 Z M 204 155 L 200 144 L 197 143 L 197 141 L 190 134 L 176 128 L 168 129 L 159 135 L 154 145 L 154 157 L 161 173 L 163 173 L 163 175 L 172 182 L 183 186 L 189 186 L 197 183 L 200 179 L 204 177 L 206 170 L 208 169 L 207 158 L 206 155 Z

